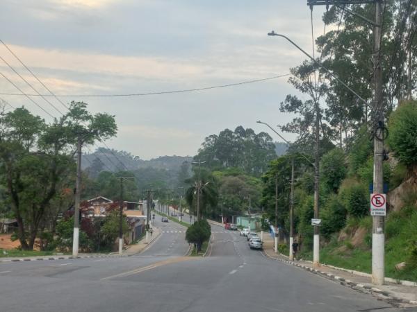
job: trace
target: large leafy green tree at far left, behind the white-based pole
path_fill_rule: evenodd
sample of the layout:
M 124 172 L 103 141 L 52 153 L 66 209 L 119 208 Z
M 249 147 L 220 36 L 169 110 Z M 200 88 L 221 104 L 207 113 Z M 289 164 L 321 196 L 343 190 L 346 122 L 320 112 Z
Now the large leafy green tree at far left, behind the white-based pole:
M 74 177 L 71 149 L 82 129 L 90 130 L 83 137 L 90 144 L 111 137 L 117 127 L 113 116 L 92 116 L 85 103 L 72 102 L 67 114 L 51 124 L 24 107 L 0 115 L 0 181 L 6 186 L 24 250 L 33 249 L 51 202 Z

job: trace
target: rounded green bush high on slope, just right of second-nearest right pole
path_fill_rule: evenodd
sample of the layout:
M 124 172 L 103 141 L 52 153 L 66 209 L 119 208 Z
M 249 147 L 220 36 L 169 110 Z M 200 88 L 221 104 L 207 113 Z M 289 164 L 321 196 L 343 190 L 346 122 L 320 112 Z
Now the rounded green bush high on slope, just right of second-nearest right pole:
M 345 153 L 340 148 L 329 150 L 323 155 L 320 167 L 323 187 L 336 193 L 346 175 Z

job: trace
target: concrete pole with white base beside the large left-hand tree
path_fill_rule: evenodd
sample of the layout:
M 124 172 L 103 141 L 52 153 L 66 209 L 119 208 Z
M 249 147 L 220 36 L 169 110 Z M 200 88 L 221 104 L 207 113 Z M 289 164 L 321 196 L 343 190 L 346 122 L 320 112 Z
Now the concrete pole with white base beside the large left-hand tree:
M 72 257 L 78 256 L 79 252 L 79 215 L 81 197 L 81 134 L 76 141 L 76 181 L 75 181 L 75 203 L 74 203 L 74 234 L 72 236 Z

